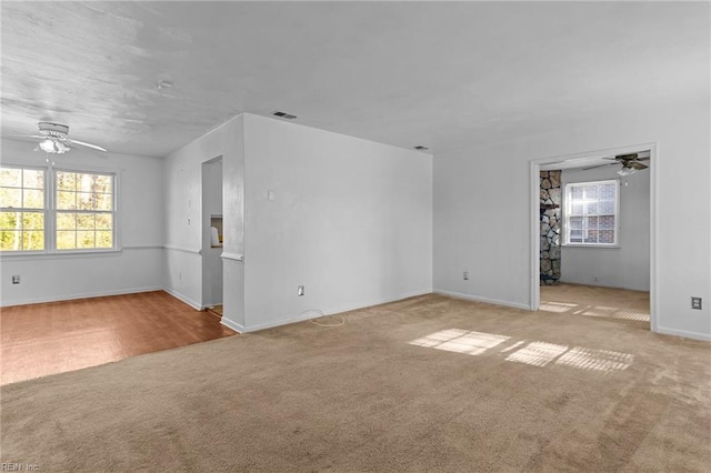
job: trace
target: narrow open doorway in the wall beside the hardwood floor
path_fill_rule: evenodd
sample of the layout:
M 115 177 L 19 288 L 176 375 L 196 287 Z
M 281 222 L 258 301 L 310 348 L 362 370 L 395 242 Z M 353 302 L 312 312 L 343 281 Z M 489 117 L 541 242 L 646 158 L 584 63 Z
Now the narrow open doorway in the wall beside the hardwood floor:
M 222 157 L 202 163 L 202 306 L 222 308 Z

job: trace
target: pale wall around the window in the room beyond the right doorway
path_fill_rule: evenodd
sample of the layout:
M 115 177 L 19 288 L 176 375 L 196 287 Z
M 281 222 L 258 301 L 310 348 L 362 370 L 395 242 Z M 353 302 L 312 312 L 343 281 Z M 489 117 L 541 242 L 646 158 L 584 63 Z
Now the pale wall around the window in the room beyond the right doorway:
M 561 173 L 563 189 L 571 182 L 619 179 L 621 183 L 618 248 L 563 246 L 562 282 L 649 291 L 651 172 L 644 170 L 620 178 L 619 169 L 619 165 L 607 165 L 588 171 L 569 169 Z

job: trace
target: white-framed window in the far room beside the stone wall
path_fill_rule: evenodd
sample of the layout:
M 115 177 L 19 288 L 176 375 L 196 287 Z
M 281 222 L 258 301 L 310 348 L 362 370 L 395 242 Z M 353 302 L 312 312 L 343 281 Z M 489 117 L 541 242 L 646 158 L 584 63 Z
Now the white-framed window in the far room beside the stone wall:
M 618 181 L 565 184 L 565 243 L 618 242 Z

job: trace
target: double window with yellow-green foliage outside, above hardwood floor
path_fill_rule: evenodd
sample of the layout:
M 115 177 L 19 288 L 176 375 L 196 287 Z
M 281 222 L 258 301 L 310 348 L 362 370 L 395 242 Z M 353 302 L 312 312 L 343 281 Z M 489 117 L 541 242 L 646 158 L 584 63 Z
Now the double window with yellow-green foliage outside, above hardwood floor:
M 111 173 L 3 165 L 0 250 L 9 253 L 114 249 L 114 188 L 116 177 Z

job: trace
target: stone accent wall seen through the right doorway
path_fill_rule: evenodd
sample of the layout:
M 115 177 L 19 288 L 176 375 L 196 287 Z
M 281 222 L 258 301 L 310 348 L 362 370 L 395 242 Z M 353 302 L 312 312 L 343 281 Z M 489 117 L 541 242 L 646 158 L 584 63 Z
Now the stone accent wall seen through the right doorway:
M 560 280 L 560 171 L 541 171 L 541 284 Z

